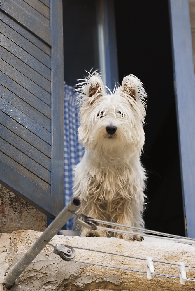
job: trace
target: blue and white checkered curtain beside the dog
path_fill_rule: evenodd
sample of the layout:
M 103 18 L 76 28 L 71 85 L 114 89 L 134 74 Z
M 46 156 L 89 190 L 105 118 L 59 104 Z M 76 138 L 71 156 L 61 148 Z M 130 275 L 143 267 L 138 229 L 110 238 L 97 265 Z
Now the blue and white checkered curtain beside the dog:
M 64 82 L 64 195 L 67 205 L 73 195 L 74 168 L 82 159 L 84 149 L 78 141 L 78 107 L 74 88 Z M 71 230 L 73 219 L 66 223 Z

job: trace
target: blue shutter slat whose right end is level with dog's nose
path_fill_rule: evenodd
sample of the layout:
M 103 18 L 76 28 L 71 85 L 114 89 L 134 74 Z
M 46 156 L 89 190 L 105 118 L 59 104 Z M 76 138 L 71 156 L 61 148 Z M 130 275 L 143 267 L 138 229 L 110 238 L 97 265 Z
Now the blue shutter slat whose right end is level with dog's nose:
M 29 118 L 37 122 L 39 125 L 50 131 L 51 120 L 44 116 L 42 113 L 34 109 L 28 103 L 24 102 L 22 99 L 17 97 L 15 94 L 10 92 L 7 88 L 0 84 L 0 96 L 3 100 L 13 105 L 15 108 L 19 109 L 22 113 L 27 115 Z

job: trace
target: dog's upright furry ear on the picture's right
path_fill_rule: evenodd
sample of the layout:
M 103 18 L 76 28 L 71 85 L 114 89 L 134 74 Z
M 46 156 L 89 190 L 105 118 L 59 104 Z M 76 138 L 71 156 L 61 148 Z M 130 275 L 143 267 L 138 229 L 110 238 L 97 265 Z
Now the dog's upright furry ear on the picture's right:
M 125 76 L 122 80 L 120 87 L 120 94 L 129 100 L 132 104 L 132 101 L 144 101 L 147 98 L 146 92 L 143 88 L 143 83 L 134 75 Z

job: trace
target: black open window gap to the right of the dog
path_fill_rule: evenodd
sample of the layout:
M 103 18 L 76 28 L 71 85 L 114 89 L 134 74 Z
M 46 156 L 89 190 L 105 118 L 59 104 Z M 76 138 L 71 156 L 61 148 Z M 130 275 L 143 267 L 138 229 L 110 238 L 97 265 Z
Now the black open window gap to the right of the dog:
M 115 21 L 119 81 L 134 74 L 148 94 L 145 225 L 185 235 L 168 1 L 115 0 Z

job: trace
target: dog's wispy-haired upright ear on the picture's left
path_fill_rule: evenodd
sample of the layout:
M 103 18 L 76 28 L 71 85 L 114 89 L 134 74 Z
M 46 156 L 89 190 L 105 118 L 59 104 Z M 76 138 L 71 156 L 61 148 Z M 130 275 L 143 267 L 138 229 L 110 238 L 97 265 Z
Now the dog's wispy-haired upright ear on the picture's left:
M 94 74 L 88 79 L 86 88 L 86 95 L 89 97 L 89 103 L 92 104 L 97 98 L 105 95 L 104 85 L 101 77 Z

